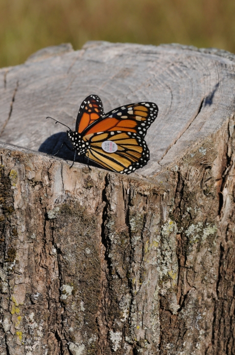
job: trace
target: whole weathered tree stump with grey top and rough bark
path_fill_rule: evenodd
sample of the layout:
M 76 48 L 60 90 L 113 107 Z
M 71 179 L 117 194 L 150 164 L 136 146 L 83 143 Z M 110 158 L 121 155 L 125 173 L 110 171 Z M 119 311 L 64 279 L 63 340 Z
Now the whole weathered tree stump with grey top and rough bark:
M 89 42 L 0 70 L 0 355 L 235 354 L 235 56 Z M 152 101 L 128 176 L 51 154 L 80 103 Z M 13 145 L 14 144 L 14 145 Z

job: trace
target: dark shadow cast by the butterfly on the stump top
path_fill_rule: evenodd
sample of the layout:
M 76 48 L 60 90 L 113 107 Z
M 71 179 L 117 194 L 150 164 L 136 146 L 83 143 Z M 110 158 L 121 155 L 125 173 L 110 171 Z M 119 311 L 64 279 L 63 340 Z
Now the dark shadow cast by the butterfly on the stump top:
M 66 145 L 63 145 L 62 148 L 60 149 L 61 145 L 63 142 L 66 142 L 70 147 L 70 141 L 67 139 L 67 133 L 66 132 L 59 132 L 55 133 L 54 135 L 48 137 L 39 147 L 39 152 L 42 153 L 47 153 L 49 155 L 54 155 L 56 152 L 59 152 L 55 155 L 58 158 L 64 159 L 64 160 L 70 160 L 73 162 L 74 158 L 74 152 L 69 150 Z M 82 164 L 87 164 L 88 159 L 85 156 L 78 156 L 76 154 L 75 162 L 77 163 L 82 163 Z M 89 165 L 91 166 L 96 166 L 100 167 L 91 160 L 89 160 Z

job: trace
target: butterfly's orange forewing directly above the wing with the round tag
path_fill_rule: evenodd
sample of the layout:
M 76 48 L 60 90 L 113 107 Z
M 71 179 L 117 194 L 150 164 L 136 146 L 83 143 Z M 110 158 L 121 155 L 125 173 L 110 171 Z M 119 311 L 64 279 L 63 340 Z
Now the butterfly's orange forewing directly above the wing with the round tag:
M 158 115 L 158 107 L 152 102 L 142 102 L 118 107 L 93 121 L 82 135 L 97 132 L 125 131 L 145 137 L 147 129 Z M 80 128 L 79 128 L 80 129 Z

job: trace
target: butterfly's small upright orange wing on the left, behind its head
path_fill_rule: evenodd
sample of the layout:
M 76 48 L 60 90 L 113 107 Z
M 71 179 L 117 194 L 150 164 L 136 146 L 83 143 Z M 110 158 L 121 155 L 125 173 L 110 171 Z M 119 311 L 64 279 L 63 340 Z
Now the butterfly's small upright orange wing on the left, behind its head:
M 104 114 L 103 104 L 97 95 L 89 95 L 81 104 L 77 114 L 75 131 L 82 133 Z

